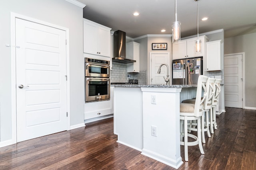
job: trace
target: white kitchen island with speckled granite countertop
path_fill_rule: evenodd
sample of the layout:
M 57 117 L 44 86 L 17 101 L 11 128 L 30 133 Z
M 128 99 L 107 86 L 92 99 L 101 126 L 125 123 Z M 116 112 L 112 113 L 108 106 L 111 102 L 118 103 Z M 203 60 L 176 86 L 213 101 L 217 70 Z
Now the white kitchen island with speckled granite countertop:
M 118 135 L 117 142 L 178 169 L 183 163 L 180 156 L 180 101 L 194 97 L 196 86 L 111 86 L 115 87 L 114 133 Z M 180 94 L 181 91 L 184 93 Z

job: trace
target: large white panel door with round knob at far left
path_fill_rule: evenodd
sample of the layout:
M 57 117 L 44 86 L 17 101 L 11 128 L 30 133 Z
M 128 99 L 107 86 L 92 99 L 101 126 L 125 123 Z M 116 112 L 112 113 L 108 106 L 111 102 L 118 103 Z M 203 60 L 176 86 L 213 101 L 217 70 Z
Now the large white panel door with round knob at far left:
M 65 76 L 66 32 L 16 18 L 17 142 L 67 130 Z

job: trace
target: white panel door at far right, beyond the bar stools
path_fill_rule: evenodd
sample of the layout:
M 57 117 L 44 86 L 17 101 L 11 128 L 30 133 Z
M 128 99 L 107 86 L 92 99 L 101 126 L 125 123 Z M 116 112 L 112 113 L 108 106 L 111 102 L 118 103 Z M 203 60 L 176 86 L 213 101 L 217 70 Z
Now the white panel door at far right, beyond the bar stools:
M 242 108 L 242 54 L 224 56 L 224 98 L 226 107 Z

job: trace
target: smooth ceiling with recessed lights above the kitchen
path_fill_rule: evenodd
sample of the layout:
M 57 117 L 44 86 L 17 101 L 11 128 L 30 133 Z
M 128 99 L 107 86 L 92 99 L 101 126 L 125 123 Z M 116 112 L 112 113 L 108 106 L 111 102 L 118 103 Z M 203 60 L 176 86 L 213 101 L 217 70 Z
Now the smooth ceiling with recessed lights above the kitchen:
M 85 4 L 84 18 L 122 30 L 131 38 L 171 34 L 175 0 L 77 0 Z M 181 36 L 197 34 L 197 2 L 177 0 Z M 134 12 L 140 13 L 133 16 Z M 199 0 L 199 34 L 224 29 L 224 37 L 256 32 L 256 0 Z M 203 17 L 208 20 L 201 21 Z M 162 33 L 161 30 L 166 29 Z

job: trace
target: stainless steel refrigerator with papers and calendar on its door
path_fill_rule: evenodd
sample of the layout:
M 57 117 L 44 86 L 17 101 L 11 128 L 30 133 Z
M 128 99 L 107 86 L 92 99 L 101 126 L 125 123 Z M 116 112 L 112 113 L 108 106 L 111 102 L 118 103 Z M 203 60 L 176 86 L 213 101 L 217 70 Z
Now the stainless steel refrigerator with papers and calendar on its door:
M 172 84 L 197 84 L 203 74 L 203 58 L 191 58 L 172 61 Z

